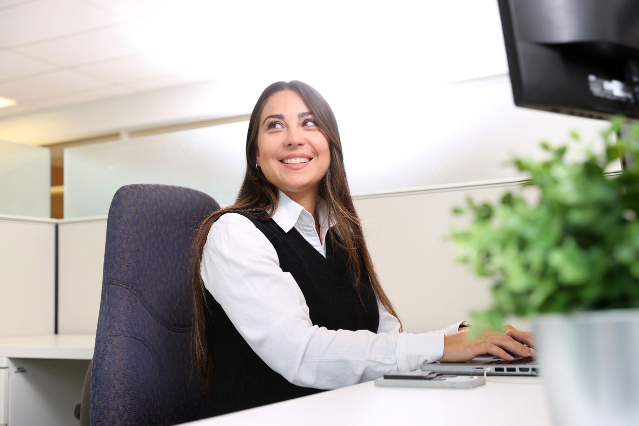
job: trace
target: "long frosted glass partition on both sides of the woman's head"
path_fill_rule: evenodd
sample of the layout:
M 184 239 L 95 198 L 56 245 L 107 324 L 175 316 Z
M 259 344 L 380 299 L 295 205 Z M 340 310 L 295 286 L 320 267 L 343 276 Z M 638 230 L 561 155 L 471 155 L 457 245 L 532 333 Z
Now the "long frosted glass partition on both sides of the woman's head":
M 358 115 L 343 111 L 340 131 L 353 194 L 515 182 L 522 176 L 509 165 L 514 155 L 538 157 L 540 141 L 563 143 L 571 130 L 598 150 L 606 127 L 599 120 L 515 107 L 505 77 L 415 86 L 411 95 L 428 102 L 413 99 L 388 110 L 387 104 L 362 103 Z M 383 102 L 390 104 L 405 94 L 387 97 Z M 229 205 L 242 183 L 246 128 L 247 122 L 226 123 L 67 148 L 65 217 L 107 214 L 113 194 L 126 184 L 193 187 Z M 618 163 L 615 168 L 620 170 Z

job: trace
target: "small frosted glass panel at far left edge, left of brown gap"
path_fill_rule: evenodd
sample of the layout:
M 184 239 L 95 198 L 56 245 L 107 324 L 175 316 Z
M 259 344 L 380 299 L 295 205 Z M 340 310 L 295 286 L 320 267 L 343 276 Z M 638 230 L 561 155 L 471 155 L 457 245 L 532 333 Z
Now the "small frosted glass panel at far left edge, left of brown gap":
M 51 152 L 0 141 L 0 214 L 51 216 Z

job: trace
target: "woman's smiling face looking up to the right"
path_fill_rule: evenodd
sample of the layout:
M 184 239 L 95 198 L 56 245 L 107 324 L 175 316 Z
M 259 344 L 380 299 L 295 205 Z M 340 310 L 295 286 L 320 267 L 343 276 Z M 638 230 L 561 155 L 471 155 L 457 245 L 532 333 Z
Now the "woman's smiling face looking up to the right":
M 317 197 L 330 165 L 328 139 L 295 91 L 271 95 L 259 118 L 256 159 L 268 182 L 292 200 Z

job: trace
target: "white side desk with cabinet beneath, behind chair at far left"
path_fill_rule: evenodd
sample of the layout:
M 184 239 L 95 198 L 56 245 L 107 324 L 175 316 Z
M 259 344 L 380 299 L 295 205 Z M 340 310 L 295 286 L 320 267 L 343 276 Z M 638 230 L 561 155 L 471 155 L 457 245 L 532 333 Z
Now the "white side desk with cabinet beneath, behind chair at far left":
M 68 426 L 95 335 L 0 338 L 0 425 Z

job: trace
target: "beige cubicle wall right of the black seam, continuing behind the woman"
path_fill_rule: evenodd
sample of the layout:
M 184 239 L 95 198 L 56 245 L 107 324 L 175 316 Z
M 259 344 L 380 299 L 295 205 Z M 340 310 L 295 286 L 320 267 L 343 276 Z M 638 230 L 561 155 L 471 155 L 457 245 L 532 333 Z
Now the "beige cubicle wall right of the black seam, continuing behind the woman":
M 467 196 L 497 200 L 517 187 L 449 188 L 355 201 L 374 265 L 405 331 L 440 329 L 489 305 L 490 283 L 454 261 L 445 239 L 464 219 L 451 210 Z M 59 226 L 59 332 L 95 333 L 106 218 L 65 219 Z M 527 328 L 525 320 L 512 320 Z

